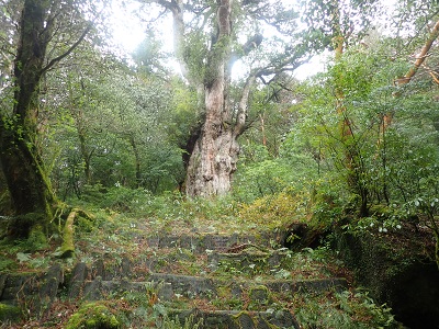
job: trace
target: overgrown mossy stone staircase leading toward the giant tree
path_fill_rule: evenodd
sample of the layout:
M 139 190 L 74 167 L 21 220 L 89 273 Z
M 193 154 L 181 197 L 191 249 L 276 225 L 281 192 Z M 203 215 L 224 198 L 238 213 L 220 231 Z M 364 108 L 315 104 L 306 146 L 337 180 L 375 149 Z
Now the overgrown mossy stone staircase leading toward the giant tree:
M 60 299 L 137 298 L 143 302 L 126 313 L 131 328 L 150 328 L 142 325 L 146 304 L 198 328 L 301 328 L 294 296 L 340 292 L 348 283 L 277 240 L 272 232 L 135 235 L 139 252 L 103 253 L 71 273 L 54 264 L 45 273 L 1 274 L 0 302 L 42 313 Z

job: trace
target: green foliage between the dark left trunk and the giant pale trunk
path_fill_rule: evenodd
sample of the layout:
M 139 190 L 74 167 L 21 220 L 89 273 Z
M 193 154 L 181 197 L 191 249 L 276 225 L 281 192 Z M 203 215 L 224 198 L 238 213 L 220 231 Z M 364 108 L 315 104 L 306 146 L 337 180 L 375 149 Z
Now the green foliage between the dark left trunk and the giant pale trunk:
M 154 193 L 176 188 L 182 161 L 168 129 L 173 111 L 169 84 L 110 56 L 98 59 L 94 50 L 86 55 L 99 61 L 101 75 L 78 64 L 48 77 L 57 88 L 44 103 L 50 121 L 44 157 L 57 193 L 64 200 L 81 197 L 83 185 L 97 183 Z

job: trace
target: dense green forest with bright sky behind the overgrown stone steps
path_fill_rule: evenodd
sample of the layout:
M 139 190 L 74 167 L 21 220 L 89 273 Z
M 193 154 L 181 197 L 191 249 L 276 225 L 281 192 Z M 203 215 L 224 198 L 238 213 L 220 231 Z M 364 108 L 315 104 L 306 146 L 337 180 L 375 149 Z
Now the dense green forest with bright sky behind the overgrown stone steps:
M 69 258 L 75 216 L 223 212 L 333 243 L 423 234 L 401 248 L 439 268 L 438 1 L 0 8 L 4 246 Z M 144 31 L 130 52 L 126 18 Z

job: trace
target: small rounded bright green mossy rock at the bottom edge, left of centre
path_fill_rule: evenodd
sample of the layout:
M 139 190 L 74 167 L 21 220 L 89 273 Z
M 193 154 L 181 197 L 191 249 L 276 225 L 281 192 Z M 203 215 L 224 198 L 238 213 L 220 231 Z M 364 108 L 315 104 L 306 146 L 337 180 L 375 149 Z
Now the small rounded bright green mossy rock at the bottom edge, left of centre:
M 119 329 L 116 316 L 102 302 L 83 304 L 67 322 L 66 329 Z

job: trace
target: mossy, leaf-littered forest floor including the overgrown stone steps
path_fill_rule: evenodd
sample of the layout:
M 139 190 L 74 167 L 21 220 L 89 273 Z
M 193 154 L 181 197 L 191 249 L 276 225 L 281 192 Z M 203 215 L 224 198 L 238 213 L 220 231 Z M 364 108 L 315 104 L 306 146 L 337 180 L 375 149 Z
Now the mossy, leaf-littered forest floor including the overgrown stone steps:
M 59 258 L 56 237 L 43 250 L 3 245 L 0 303 L 24 315 L 0 314 L 0 328 L 401 328 L 328 246 L 292 251 L 280 225 L 102 211 L 76 220 L 72 258 Z M 4 300 L 8 280 L 55 264 L 63 275 L 44 307 L 37 290 Z

